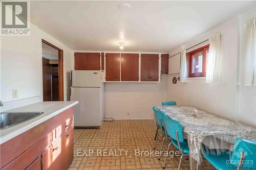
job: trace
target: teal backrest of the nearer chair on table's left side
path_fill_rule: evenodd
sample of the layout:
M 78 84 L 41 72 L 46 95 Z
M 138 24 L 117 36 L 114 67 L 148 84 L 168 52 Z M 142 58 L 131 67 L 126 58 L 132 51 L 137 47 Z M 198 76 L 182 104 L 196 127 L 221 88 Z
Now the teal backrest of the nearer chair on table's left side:
M 169 118 L 166 114 L 164 114 L 164 125 L 166 128 L 167 135 L 177 140 L 176 138 L 176 130 L 178 132 L 179 141 L 183 142 L 183 130 L 180 122 Z

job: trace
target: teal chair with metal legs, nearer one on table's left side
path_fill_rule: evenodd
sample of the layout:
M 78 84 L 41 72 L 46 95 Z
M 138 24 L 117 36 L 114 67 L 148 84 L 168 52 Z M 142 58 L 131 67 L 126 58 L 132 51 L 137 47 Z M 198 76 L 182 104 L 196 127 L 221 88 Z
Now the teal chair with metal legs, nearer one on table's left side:
M 179 149 L 179 152 L 181 154 L 178 167 L 179 170 L 183 156 L 189 156 L 188 143 L 187 140 L 183 138 L 182 125 L 180 122 L 177 122 L 176 120 L 173 120 L 164 114 L 164 129 L 166 133 L 165 136 L 170 142 L 167 152 L 169 152 L 170 145 L 173 143 L 175 147 Z M 163 168 L 165 168 L 166 160 L 167 155 L 165 156 Z M 191 167 L 191 158 L 189 159 L 189 166 Z

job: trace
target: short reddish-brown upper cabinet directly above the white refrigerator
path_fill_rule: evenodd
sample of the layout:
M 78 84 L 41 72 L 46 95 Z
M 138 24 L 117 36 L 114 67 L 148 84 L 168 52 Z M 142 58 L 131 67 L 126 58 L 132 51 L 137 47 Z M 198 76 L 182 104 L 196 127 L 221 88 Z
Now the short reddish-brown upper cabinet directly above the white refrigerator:
M 75 53 L 76 70 L 100 70 L 100 53 Z

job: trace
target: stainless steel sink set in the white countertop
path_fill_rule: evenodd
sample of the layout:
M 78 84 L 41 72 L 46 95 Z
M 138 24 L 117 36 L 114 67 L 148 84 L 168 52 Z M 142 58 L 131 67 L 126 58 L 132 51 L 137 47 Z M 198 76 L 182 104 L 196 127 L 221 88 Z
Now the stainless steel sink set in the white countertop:
M 24 123 L 41 115 L 43 112 L 2 112 L 0 113 L 0 129 Z

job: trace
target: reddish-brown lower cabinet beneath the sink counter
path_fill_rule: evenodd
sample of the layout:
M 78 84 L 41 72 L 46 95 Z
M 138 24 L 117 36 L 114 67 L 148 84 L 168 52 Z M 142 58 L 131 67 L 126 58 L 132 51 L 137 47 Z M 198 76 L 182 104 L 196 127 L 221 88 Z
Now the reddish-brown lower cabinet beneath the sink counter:
M 73 107 L 0 145 L 0 168 L 68 169 L 73 160 Z

